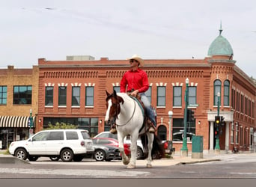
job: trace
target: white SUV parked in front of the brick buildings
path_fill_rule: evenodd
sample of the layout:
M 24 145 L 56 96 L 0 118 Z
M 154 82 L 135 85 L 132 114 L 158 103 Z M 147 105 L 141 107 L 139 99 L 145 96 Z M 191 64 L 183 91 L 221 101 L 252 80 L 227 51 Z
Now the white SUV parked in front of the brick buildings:
M 79 162 L 92 155 L 94 147 L 87 130 L 53 129 L 37 132 L 25 141 L 13 141 L 9 152 L 23 160 L 36 161 L 45 156 L 63 162 Z

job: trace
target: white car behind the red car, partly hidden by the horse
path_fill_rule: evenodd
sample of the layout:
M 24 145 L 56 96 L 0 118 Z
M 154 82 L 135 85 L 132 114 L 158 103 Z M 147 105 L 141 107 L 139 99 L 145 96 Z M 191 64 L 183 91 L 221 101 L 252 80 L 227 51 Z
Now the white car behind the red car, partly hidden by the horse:
M 112 134 L 111 132 L 100 132 L 98 135 L 95 135 L 94 138 L 115 138 L 118 140 L 117 134 Z M 131 144 L 131 140 L 129 136 L 124 138 L 124 144 Z M 141 143 L 141 138 L 138 138 L 137 140 L 137 159 L 144 159 L 145 153 L 143 149 L 143 145 Z

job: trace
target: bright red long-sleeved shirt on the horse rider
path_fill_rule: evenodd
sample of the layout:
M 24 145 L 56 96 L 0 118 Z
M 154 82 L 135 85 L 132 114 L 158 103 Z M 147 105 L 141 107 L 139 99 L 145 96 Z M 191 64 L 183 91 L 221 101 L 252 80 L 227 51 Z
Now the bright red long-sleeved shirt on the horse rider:
M 147 91 L 149 88 L 147 73 L 139 68 L 135 71 L 129 70 L 124 73 L 120 83 L 120 92 L 126 92 L 126 88 L 127 91 L 131 91 L 133 88 L 138 90 L 139 93 Z

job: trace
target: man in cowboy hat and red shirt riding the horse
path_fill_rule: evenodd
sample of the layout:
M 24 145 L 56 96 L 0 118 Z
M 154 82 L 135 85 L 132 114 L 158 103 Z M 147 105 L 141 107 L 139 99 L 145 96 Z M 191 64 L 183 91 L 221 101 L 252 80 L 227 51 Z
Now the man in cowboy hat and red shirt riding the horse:
M 147 123 L 150 124 L 149 132 L 154 133 L 156 129 L 155 114 L 147 96 L 144 93 L 149 88 L 147 73 L 139 68 L 139 66 L 143 67 L 144 61 L 138 55 L 132 55 L 132 58 L 128 58 L 128 60 L 131 70 L 124 73 L 124 76 L 121 79 L 120 92 L 127 92 L 132 96 L 137 96 L 137 94 L 141 96 L 141 101 L 144 104 L 147 117 L 149 118 L 149 120 L 147 120 Z M 110 132 L 113 134 L 117 132 L 115 126 L 112 126 Z

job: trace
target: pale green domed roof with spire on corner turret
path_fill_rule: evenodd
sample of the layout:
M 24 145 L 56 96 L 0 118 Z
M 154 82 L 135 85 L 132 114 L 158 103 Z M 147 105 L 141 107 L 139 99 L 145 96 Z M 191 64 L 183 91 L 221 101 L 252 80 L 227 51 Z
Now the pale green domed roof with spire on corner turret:
M 210 44 L 208 50 L 208 56 L 213 55 L 233 55 L 233 49 L 231 47 L 231 44 L 225 37 L 222 37 L 222 25 L 219 29 L 219 36 L 216 37 L 215 40 L 213 40 L 213 43 Z

